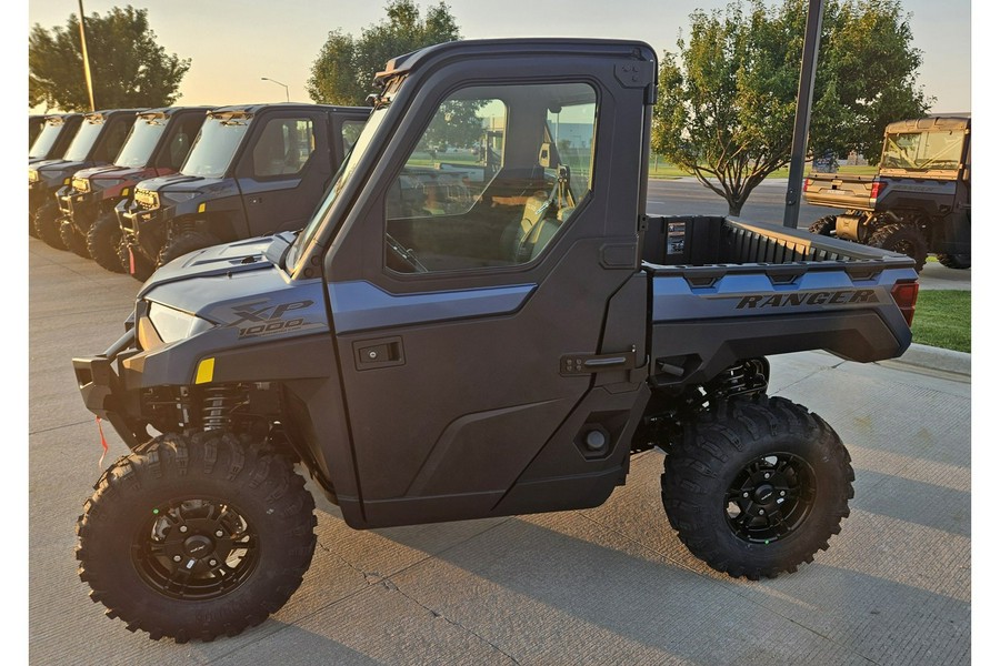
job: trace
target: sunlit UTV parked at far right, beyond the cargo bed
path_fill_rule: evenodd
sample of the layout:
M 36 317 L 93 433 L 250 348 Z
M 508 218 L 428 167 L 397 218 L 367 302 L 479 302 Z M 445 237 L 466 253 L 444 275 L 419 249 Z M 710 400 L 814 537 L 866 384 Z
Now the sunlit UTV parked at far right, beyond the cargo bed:
M 972 265 L 972 119 L 931 117 L 886 128 L 878 175 L 811 173 L 813 205 L 847 209 L 810 231 L 913 258 L 928 253 L 951 269 Z

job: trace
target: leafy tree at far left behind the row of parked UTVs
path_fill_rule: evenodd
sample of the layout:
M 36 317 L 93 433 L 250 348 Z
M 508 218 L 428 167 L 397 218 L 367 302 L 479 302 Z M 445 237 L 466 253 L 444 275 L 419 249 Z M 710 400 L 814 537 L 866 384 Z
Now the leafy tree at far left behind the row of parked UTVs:
M 84 19 L 87 53 L 98 109 L 172 104 L 191 67 L 190 59 L 168 56 L 149 27 L 147 10 L 112 8 Z M 83 75 L 80 23 L 70 14 L 63 28 L 38 23 L 28 36 L 28 105 L 90 111 Z

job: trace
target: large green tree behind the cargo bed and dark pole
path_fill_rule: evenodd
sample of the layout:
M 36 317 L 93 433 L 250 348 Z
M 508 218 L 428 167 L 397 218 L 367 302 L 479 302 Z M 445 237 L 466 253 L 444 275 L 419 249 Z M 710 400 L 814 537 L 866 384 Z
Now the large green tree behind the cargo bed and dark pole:
M 739 215 L 750 192 L 791 160 L 806 0 L 738 0 L 691 14 L 687 42 L 664 53 L 652 148 L 724 198 Z M 899 0 L 827 0 L 810 152 L 878 159 L 886 124 L 930 108 L 917 85 Z

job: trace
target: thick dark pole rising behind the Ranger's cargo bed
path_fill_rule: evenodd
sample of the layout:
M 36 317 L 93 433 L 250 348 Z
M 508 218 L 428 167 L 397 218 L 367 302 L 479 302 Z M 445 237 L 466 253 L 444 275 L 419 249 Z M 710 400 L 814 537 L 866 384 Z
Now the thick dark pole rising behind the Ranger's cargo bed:
M 802 71 L 799 74 L 799 99 L 796 100 L 796 125 L 792 131 L 792 158 L 788 165 L 788 192 L 784 196 L 784 225 L 799 225 L 799 202 L 806 171 L 806 149 L 809 144 L 809 117 L 812 112 L 812 87 L 816 83 L 816 61 L 823 28 L 823 0 L 809 0 L 806 14 L 806 43 L 802 44 Z

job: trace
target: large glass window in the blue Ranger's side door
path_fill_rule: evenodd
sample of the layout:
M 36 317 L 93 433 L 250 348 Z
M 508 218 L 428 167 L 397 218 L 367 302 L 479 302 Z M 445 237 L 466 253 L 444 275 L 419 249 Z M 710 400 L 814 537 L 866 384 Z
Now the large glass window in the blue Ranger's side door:
M 462 89 L 386 195 L 390 270 L 523 264 L 589 193 L 597 93 L 584 83 Z

